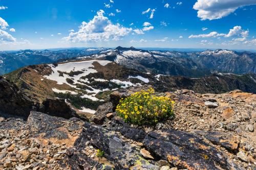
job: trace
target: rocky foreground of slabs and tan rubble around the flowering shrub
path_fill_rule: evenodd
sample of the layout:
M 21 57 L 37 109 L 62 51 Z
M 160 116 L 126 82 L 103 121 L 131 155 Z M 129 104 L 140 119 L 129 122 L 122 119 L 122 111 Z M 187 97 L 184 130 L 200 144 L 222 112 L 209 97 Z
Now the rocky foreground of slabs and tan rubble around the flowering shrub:
M 256 94 L 159 93 L 176 101 L 175 117 L 138 128 L 113 112 L 136 90 L 113 92 L 89 121 L 30 105 L 21 114 L 13 98 L 12 115 L 0 114 L 0 169 L 256 169 Z

